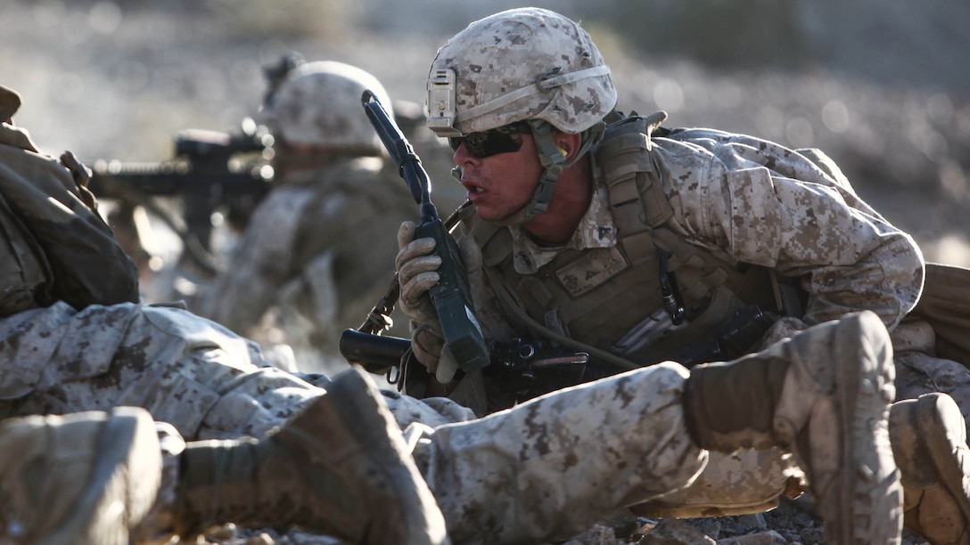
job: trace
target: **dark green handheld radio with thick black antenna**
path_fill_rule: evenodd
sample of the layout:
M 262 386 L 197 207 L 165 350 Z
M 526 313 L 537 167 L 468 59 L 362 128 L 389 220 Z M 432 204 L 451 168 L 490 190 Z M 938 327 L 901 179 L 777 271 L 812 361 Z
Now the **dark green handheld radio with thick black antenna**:
M 431 201 L 428 173 L 421 166 L 421 159 L 414 153 L 414 148 L 404 138 L 401 129 L 370 90 L 364 91 L 361 103 L 391 159 L 398 165 L 414 202 L 420 205 L 421 223 L 417 227 L 415 238 L 431 237 L 436 240 L 435 251 L 441 258 L 441 265 L 437 269 L 439 279 L 429 292 L 435 304 L 444 342 L 460 369 L 466 372 L 482 369 L 490 363 L 489 349 L 485 344 L 481 326 L 474 317 L 469 282 L 458 245 L 444 227 L 437 208 Z M 449 382 L 456 370 L 441 365 L 437 369 L 437 378 L 441 382 Z

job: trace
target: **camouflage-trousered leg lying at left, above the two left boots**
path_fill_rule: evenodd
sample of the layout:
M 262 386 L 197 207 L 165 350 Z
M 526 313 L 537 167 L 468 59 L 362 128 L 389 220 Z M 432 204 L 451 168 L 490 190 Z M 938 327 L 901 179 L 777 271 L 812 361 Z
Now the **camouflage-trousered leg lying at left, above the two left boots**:
M 23 314 L 0 321 L 7 416 L 141 406 L 190 440 L 259 436 L 325 392 L 275 369 L 248 339 L 178 308 L 54 305 Z

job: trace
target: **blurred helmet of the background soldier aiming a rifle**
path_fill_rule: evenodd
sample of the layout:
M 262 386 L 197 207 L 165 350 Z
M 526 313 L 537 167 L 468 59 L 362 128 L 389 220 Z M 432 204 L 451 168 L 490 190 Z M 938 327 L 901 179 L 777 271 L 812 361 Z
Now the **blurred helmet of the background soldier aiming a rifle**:
M 372 74 L 336 61 L 315 61 L 295 68 L 259 114 L 276 138 L 379 154 L 384 147 L 361 108 L 370 89 L 391 115 L 391 99 Z

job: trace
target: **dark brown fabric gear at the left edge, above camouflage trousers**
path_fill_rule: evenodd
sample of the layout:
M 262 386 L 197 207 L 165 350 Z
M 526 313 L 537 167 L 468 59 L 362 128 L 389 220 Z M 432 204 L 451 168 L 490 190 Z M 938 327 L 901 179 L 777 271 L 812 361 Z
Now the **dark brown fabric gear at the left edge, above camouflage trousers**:
M 2 119 L 19 105 L 12 95 L 0 87 Z M 41 154 L 26 131 L 0 124 L 0 317 L 56 301 L 80 309 L 139 300 L 138 271 L 83 186 L 86 176 L 70 152 Z

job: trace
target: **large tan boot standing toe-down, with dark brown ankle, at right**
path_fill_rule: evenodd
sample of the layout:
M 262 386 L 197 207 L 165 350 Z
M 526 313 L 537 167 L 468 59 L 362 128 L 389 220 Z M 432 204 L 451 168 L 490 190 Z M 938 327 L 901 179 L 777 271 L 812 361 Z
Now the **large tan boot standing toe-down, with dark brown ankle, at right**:
M 825 542 L 898 543 L 902 491 L 889 445 L 892 348 L 863 311 L 728 363 L 691 369 L 684 401 L 697 444 L 791 449 Z

